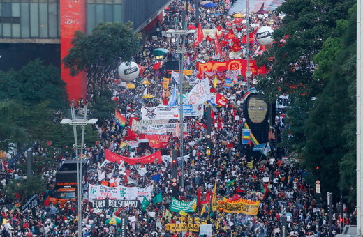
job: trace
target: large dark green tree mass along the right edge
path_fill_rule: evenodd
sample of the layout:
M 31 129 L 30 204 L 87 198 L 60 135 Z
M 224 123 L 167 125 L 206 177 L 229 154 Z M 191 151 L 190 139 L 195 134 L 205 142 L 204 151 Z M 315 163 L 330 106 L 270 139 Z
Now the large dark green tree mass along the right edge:
M 290 95 L 292 156 L 325 191 L 355 197 L 355 1 L 292 0 L 277 9 L 283 25 L 260 56 L 269 66 L 258 89 L 271 101 Z M 343 112 L 342 108 L 346 108 Z M 339 175 L 337 175 L 339 174 Z

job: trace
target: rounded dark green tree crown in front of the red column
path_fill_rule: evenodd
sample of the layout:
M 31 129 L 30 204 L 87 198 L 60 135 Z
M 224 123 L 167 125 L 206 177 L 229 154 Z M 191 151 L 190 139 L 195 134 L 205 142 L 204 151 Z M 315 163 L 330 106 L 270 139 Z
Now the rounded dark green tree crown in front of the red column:
M 101 22 L 89 34 L 75 33 L 63 63 L 72 75 L 87 72 L 87 78 L 97 86 L 114 77 L 121 61 L 131 61 L 140 49 L 139 41 L 140 34 L 133 33 L 131 22 Z

